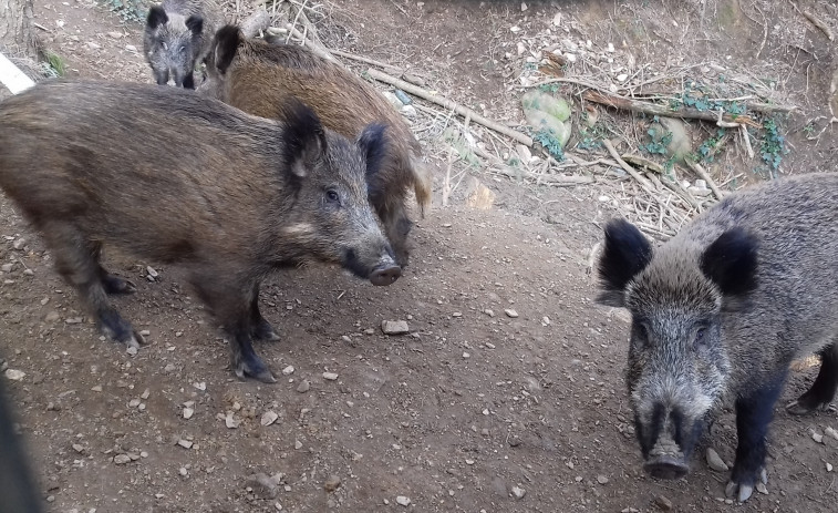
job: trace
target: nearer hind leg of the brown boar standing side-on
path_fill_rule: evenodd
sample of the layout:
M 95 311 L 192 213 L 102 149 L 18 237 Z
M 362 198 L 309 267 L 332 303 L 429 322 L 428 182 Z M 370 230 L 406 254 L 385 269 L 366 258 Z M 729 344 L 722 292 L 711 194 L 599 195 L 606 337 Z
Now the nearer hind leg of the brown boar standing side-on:
M 79 295 L 96 317 L 102 332 L 117 342 L 137 347 L 143 338 L 107 300 L 103 276 L 110 275 L 99 265 L 97 245 L 66 223 L 46 224 L 42 230 L 55 254 L 55 269 L 79 290 Z

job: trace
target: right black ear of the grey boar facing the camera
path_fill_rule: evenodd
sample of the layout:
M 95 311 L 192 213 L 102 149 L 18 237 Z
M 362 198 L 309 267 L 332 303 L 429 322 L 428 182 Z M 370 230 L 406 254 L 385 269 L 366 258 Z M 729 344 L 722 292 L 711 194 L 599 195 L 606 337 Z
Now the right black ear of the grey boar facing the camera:
M 745 296 L 756 288 L 757 242 L 741 227 L 728 229 L 707 246 L 701 270 L 725 296 Z

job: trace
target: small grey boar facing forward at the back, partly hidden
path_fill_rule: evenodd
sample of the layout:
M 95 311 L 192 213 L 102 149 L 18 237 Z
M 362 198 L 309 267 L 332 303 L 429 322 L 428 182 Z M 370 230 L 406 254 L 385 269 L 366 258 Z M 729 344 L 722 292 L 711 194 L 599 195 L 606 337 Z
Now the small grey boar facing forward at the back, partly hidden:
M 157 84 L 170 76 L 178 88 L 195 89 L 195 64 L 207 55 L 223 22 L 215 0 L 163 0 L 148 9 L 143 51 Z

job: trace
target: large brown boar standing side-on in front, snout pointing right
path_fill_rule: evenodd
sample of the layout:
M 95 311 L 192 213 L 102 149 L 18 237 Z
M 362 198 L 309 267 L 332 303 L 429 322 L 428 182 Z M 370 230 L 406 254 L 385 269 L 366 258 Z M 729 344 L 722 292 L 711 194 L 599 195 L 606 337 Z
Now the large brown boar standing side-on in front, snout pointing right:
M 108 337 L 141 337 L 107 300 L 133 284 L 102 245 L 180 265 L 220 321 L 239 377 L 273 381 L 251 339 L 276 340 L 259 284 L 303 261 L 374 285 L 401 275 L 366 198 L 383 126 L 355 141 L 290 103 L 283 123 L 175 88 L 55 81 L 0 103 L 0 186 Z

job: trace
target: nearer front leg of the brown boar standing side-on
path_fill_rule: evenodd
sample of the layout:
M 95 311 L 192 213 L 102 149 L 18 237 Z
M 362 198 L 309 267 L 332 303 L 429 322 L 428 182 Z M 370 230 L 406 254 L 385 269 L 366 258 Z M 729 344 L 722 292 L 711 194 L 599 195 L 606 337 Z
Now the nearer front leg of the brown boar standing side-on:
M 189 281 L 221 324 L 224 334 L 230 342 L 231 367 L 236 376 L 242 379 L 249 376 L 266 383 L 275 383 L 277 379 L 254 350 L 251 307 L 255 287 L 225 283 L 218 278 L 221 274 L 196 274 Z

